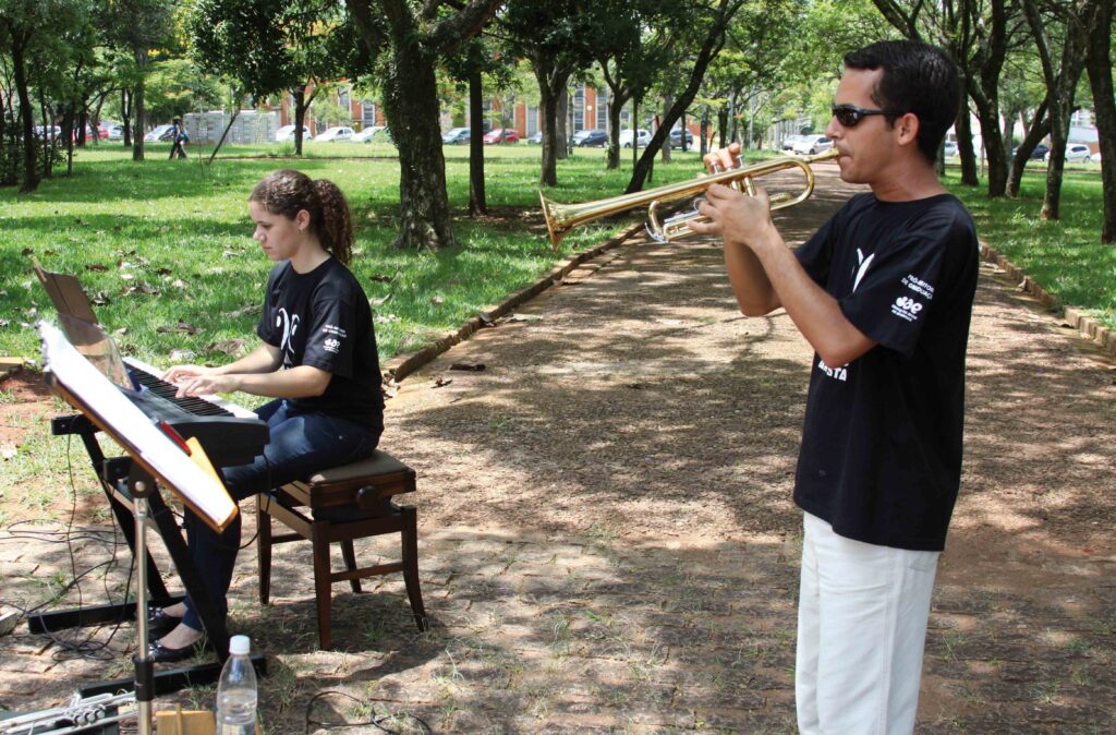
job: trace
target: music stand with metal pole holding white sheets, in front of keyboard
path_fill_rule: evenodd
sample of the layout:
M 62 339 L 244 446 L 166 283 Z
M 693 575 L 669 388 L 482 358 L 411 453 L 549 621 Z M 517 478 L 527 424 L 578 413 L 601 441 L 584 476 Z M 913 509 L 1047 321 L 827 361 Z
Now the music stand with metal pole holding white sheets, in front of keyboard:
M 97 328 L 94 325 L 88 325 Z M 117 386 L 84 357 L 56 327 L 39 323 L 44 363 L 50 386 L 112 437 L 132 458 L 125 480 L 133 498 L 136 534 L 136 621 L 140 652 L 134 657 L 140 732 L 151 733 L 154 662 L 147 658 L 147 500 L 155 484 L 171 490 L 214 531 L 222 531 L 239 512 L 211 471 L 155 427 Z M 206 460 L 208 464 L 208 460 Z

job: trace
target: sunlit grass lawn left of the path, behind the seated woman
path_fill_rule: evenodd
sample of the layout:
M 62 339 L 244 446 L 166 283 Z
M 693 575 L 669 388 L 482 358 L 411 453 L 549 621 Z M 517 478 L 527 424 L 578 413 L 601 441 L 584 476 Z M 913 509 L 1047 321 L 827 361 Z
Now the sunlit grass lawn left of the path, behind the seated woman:
M 102 323 L 127 352 L 166 364 L 174 350 L 198 361 L 232 359 L 230 342 L 254 344 L 263 284 L 271 264 L 251 239 L 247 197 L 278 168 L 328 178 L 354 209 L 353 270 L 376 305 L 381 359 L 423 346 L 466 317 L 533 281 L 556 260 L 538 203 L 540 149 L 485 147 L 487 198 L 493 216 L 466 217 L 469 147 L 446 146 L 446 179 L 460 246 L 441 252 L 397 251 L 398 161 L 388 144 L 307 143 L 307 156 L 277 157 L 290 145 L 225 146 L 213 165 L 208 151 L 167 161 L 170 147 L 148 145 L 133 163 L 119 145 L 80 152 L 74 175 L 44 181 L 31 195 L 0 190 L 0 355 L 39 352 L 32 326 L 52 309 L 30 269 L 35 254 L 48 270 L 76 275 L 94 296 Z M 585 201 L 623 191 L 631 171 L 604 170 L 604 151 L 579 149 L 559 164 L 548 195 Z M 675 152 L 656 165 L 655 183 L 694 175 L 696 153 Z M 633 212 L 633 218 L 642 213 Z M 578 228 L 564 254 L 596 245 L 619 226 Z

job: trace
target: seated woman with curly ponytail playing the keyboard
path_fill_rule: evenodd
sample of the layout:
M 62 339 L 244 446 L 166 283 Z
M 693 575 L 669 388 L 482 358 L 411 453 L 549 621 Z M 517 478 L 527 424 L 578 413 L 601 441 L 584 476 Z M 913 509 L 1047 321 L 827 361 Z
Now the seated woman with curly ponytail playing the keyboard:
M 176 365 L 163 380 L 179 395 L 243 391 L 272 398 L 257 413 L 270 442 L 251 465 L 223 470 L 237 500 L 345 465 L 375 449 L 384 427 L 379 362 L 372 311 L 349 273 L 353 226 L 348 203 L 331 182 L 277 171 L 248 199 L 252 237 L 276 264 L 263 296 L 250 354 L 220 367 Z M 219 612 L 240 545 L 240 515 L 217 533 L 186 510 L 186 538 Z M 202 623 L 187 598 L 151 617 L 156 661 L 177 661 L 200 648 Z

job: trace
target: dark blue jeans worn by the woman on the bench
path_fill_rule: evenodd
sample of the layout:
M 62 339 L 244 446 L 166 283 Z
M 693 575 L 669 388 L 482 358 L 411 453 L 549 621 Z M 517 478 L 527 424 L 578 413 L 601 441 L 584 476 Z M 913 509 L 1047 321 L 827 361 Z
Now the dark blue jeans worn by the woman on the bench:
M 243 500 L 330 467 L 347 465 L 372 454 L 379 433 L 362 426 L 324 413 L 288 413 L 287 401 L 278 399 L 260 407 L 256 413 L 268 422 L 271 438 L 263 454 L 250 465 L 222 470 L 224 485 L 234 500 Z M 186 544 L 206 591 L 221 615 L 229 612 L 229 585 L 240 547 L 240 514 L 223 533 L 217 533 L 205 522 L 186 509 Z M 193 602 L 186 599 L 183 622 L 202 630 L 202 621 Z

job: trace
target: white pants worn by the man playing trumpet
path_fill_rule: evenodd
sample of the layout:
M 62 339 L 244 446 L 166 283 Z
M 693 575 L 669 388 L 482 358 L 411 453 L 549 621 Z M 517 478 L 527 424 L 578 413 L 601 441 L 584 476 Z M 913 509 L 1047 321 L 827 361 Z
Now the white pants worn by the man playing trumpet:
M 804 735 L 910 735 L 939 552 L 802 519 L 795 698 Z

